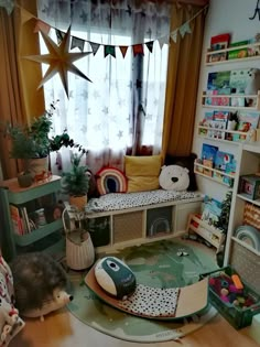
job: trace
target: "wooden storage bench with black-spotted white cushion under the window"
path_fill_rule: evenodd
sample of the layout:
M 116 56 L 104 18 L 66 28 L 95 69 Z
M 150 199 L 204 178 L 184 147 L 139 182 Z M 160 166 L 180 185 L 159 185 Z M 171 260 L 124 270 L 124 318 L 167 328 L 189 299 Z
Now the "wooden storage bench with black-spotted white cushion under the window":
M 97 252 L 174 238 L 185 232 L 188 216 L 201 212 L 202 202 L 197 192 L 107 194 L 89 200 L 88 231 Z

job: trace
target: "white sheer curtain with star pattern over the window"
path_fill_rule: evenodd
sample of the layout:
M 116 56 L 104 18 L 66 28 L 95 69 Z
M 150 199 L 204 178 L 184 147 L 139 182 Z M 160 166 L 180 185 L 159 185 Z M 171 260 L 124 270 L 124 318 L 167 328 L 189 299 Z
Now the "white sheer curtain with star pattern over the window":
M 91 43 L 100 44 L 96 54 L 75 62 L 93 83 L 69 73 L 69 98 L 57 75 L 44 85 L 46 107 L 59 100 L 54 134 L 66 128 L 88 150 L 94 172 L 104 165 L 122 169 L 127 150 L 161 150 L 167 45 L 161 47 L 155 40 L 169 34 L 171 9 L 162 1 L 142 2 L 37 0 L 39 18 L 52 26 L 54 41 L 56 30 L 66 32 L 72 25 L 72 36 L 84 40 L 84 52 L 93 51 Z M 144 45 L 149 41 L 154 42 L 152 53 Z M 143 56 L 134 56 L 134 44 L 143 44 Z M 105 57 L 105 45 L 116 46 L 116 58 Z M 124 57 L 119 45 L 129 46 Z M 47 52 L 43 42 L 41 47 Z

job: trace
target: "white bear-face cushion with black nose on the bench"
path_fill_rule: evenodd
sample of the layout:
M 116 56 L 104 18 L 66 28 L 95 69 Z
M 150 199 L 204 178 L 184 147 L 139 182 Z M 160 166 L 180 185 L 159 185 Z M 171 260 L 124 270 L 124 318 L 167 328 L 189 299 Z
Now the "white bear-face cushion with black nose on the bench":
M 159 176 L 159 183 L 166 191 L 186 191 L 189 185 L 188 170 L 180 165 L 164 165 Z

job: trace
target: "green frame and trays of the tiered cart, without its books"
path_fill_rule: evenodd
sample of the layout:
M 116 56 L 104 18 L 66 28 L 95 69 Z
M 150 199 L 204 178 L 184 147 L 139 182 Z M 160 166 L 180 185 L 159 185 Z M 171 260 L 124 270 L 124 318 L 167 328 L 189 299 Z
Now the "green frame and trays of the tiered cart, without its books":
M 18 208 L 23 207 L 26 203 L 41 199 L 50 194 L 57 194 L 59 191 L 59 176 L 52 176 L 48 181 L 39 184 L 34 183 L 28 188 L 19 187 L 17 178 L 0 182 L 0 206 L 3 223 L 0 247 L 7 261 L 11 261 L 18 253 L 37 250 L 39 245 L 43 245 L 41 250 L 50 251 L 54 256 L 61 252 L 64 247 L 62 219 L 50 220 L 48 224 L 41 228 L 18 235 L 14 232 L 10 212 L 10 204 L 15 205 Z M 55 238 L 55 235 L 59 231 L 61 237 Z M 50 242 L 46 242 L 46 240 Z

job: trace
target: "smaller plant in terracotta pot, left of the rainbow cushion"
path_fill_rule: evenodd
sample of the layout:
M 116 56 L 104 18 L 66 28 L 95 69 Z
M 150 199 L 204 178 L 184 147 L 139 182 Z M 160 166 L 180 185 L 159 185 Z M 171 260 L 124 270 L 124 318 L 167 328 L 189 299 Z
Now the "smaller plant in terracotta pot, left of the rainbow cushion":
M 64 172 L 62 176 L 62 193 L 68 195 L 69 205 L 84 209 L 87 203 L 90 176 L 88 166 L 82 165 L 80 161 L 85 152 L 72 154 L 72 170 Z

